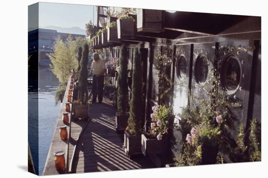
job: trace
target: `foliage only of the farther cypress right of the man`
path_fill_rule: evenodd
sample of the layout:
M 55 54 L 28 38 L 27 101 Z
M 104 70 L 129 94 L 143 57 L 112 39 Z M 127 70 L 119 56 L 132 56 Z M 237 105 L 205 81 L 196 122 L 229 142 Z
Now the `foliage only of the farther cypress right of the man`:
M 117 109 L 119 115 L 125 115 L 128 111 L 128 85 L 127 85 L 127 77 L 128 77 L 128 61 L 127 61 L 127 47 L 126 45 L 122 45 L 120 50 L 119 60 L 119 72 L 117 78 Z

